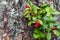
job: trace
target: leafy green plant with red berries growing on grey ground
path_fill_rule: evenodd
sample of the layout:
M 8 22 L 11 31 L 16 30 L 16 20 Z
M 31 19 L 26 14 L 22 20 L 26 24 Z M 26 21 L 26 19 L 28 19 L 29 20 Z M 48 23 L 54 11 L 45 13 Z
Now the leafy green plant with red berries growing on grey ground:
M 60 36 L 60 25 L 56 21 L 56 15 L 58 15 L 59 12 L 56 11 L 52 5 L 43 3 L 38 7 L 30 0 L 27 0 L 27 4 L 24 17 L 28 20 L 28 27 L 34 24 L 34 38 L 47 38 L 47 40 L 51 40 L 52 32 L 56 36 Z

